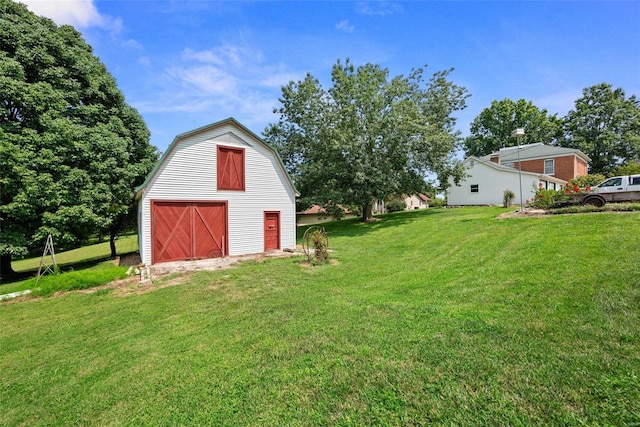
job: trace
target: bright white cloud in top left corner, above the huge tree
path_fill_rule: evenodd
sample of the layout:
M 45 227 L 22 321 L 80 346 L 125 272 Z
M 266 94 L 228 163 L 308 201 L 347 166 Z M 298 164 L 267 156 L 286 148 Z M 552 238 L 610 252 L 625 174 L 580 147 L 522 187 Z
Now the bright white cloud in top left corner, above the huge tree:
M 77 28 L 101 27 L 113 32 L 122 30 L 122 20 L 102 15 L 93 0 L 20 0 L 36 15 L 45 16 L 58 25 Z

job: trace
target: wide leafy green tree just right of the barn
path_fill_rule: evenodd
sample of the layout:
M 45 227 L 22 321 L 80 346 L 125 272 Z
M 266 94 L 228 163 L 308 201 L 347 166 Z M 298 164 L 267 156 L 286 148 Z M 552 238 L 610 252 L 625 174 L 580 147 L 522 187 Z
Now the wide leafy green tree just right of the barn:
M 283 87 L 280 120 L 264 135 L 282 155 L 301 203 L 360 206 L 366 220 L 375 199 L 421 190 L 429 172 L 440 182 L 459 178 L 452 113 L 468 94 L 449 73 L 425 81 L 418 69 L 389 78 L 387 69 L 347 59 L 333 66 L 328 90 L 311 74 Z

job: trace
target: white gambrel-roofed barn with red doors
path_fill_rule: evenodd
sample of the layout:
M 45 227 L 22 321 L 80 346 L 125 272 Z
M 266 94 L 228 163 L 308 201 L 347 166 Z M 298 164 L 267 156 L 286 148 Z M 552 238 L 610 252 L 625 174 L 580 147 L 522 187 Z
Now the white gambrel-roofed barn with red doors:
M 296 190 L 233 118 L 178 135 L 136 188 L 144 264 L 295 248 Z

